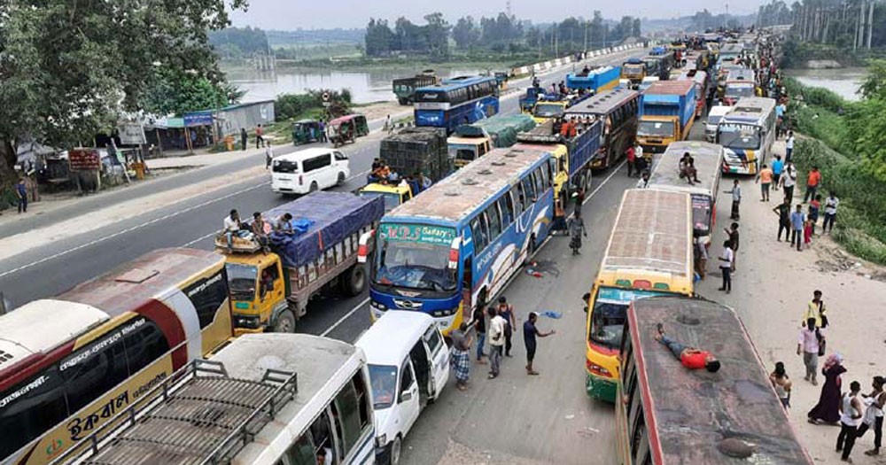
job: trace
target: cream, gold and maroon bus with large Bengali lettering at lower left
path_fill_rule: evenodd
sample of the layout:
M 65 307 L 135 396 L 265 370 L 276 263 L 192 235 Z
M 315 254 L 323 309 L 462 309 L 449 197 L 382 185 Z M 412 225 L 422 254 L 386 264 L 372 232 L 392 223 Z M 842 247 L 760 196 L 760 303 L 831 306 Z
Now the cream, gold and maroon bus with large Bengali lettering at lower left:
M 150 252 L 0 317 L 0 462 L 49 463 L 233 336 L 225 259 Z

